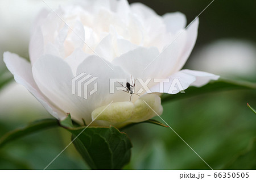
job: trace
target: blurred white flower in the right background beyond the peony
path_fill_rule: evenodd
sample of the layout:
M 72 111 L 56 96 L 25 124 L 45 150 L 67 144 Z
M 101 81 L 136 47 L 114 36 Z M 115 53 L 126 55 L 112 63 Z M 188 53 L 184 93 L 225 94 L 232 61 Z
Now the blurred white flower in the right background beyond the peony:
M 255 77 L 256 45 L 245 40 L 217 40 L 197 51 L 188 66 L 229 78 Z

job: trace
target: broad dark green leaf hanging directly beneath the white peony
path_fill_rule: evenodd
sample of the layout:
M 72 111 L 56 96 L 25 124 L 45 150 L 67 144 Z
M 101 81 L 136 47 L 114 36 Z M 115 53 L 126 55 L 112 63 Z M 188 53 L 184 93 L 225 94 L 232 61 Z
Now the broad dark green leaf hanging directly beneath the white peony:
M 131 142 L 115 127 L 73 127 L 71 116 L 60 125 L 72 133 L 72 142 L 92 169 L 122 169 L 130 161 Z

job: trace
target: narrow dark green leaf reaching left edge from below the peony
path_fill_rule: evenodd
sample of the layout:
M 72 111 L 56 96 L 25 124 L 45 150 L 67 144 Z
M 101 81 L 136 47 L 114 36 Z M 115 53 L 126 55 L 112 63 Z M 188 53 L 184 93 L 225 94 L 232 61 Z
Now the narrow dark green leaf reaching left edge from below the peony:
M 42 129 L 58 127 L 58 126 L 59 126 L 59 123 L 56 119 L 37 120 L 35 122 L 28 124 L 24 128 L 18 128 L 18 129 L 15 129 L 14 131 L 8 132 L 5 135 L 3 135 L 0 139 L 0 148 L 6 143 L 9 143 L 10 141 L 18 139 L 20 137 L 30 135 L 31 133 L 38 132 L 39 130 L 42 130 Z

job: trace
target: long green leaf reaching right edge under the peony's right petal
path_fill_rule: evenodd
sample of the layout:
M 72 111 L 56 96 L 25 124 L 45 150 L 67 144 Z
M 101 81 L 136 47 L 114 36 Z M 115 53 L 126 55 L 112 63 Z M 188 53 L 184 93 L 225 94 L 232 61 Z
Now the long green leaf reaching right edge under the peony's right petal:
M 185 93 L 178 94 L 166 94 L 162 95 L 162 102 L 172 101 L 174 99 L 189 98 L 195 95 L 210 93 L 214 91 L 234 90 L 234 89 L 256 89 L 256 83 L 245 81 L 233 81 L 228 79 L 218 79 L 217 81 L 211 81 L 207 85 L 202 87 L 188 87 L 184 90 Z

